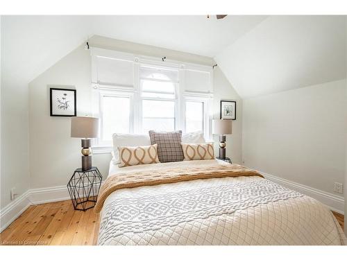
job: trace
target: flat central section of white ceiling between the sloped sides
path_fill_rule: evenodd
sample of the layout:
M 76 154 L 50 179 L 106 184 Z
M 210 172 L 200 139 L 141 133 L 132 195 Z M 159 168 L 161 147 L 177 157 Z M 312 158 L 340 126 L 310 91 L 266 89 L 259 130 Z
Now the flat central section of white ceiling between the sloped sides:
M 96 35 L 214 57 L 237 38 L 266 19 L 231 16 L 217 20 L 205 15 L 95 16 Z

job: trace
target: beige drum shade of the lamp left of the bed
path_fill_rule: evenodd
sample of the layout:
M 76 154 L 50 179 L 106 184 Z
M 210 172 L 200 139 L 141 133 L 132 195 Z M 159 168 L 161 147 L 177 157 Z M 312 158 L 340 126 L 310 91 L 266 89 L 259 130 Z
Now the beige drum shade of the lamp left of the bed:
M 71 117 L 71 137 L 95 138 L 98 137 L 99 119 L 88 116 Z

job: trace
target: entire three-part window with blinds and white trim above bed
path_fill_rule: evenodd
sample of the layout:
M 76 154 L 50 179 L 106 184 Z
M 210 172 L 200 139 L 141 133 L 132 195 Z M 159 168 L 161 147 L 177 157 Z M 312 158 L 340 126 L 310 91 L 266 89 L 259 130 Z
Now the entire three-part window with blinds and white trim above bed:
M 92 109 L 100 119 L 96 153 L 112 134 L 202 131 L 211 138 L 212 68 L 92 49 Z

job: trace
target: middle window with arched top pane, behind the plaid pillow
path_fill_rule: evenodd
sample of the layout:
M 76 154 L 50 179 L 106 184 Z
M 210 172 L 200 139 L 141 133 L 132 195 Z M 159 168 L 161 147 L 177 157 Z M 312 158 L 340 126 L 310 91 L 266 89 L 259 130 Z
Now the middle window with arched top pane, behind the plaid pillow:
M 178 71 L 140 67 L 142 132 L 172 131 L 176 126 Z

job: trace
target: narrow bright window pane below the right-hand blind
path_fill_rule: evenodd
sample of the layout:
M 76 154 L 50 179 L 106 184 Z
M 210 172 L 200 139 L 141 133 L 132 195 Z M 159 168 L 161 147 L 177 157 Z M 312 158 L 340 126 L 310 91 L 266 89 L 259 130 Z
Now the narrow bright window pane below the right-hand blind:
M 202 131 L 204 128 L 204 103 L 201 101 L 186 101 L 185 132 Z

